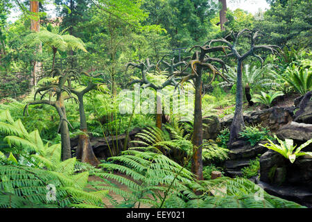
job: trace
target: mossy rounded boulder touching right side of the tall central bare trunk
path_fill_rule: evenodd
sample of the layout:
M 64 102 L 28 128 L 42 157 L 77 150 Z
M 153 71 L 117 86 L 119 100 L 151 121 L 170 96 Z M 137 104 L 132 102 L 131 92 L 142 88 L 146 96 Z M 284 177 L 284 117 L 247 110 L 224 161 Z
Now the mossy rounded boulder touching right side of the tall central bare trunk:
M 203 139 L 216 139 L 220 133 L 221 125 L 217 116 L 209 116 L 202 118 L 202 138 Z

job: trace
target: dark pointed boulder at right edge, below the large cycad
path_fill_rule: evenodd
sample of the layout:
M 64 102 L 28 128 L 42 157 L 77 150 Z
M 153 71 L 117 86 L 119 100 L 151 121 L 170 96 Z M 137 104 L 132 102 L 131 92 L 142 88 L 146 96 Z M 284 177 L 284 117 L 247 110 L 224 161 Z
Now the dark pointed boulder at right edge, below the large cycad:
M 295 112 L 294 121 L 312 124 L 312 91 L 306 93 L 299 103 L 299 110 Z

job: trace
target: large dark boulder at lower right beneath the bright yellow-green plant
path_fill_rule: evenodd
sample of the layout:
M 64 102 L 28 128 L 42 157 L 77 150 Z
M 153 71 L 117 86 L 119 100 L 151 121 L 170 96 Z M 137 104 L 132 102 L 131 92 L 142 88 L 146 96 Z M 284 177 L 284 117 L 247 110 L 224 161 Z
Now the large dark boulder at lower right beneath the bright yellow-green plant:
M 297 157 L 293 164 L 275 151 L 260 157 L 260 179 L 256 183 L 269 194 L 312 207 L 312 157 Z

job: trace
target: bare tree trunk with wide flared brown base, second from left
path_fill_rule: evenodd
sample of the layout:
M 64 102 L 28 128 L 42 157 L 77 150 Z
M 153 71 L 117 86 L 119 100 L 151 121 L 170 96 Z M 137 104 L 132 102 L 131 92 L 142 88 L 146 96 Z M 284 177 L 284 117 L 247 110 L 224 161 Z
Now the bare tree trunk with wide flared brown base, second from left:
M 81 162 L 87 162 L 93 166 L 98 166 L 100 162 L 94 155 L 89 135 L 87 135 L 87 119 L 85 117 L 85 107 L 83 105 L 83 94 L 78 95 L 79 114 L 80 114 L 80 130 L 84 134 L 79 135 L 76 157 Z

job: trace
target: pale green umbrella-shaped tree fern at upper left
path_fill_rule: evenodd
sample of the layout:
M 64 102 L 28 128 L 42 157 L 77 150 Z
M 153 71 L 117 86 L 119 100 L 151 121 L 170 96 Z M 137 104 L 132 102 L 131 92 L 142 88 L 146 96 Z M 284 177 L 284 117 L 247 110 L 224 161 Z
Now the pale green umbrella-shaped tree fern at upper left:
M 26 42 L 31 42 L 31 44 L 37 44 L 42 42 L 49 46 L 53 52 L 53 63 L 52 69 L 54 69 L 55 65 L 55 55 L 58 51 L 69 51 L 80 49 L 85 52 L 85 44 L 83 40 L 80 40 L 78 37 L 74 37 L 73 35 L 64 34 L 68 28 L 60 31 L 59 27 L 54 27 L 51 31 L 42 30 L 39 32 L 31 33 L 26 36 Z

